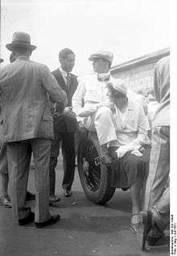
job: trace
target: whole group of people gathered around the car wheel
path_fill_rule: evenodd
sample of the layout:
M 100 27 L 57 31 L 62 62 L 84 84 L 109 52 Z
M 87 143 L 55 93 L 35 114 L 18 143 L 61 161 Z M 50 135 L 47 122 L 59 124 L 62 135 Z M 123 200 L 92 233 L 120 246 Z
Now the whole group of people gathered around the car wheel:
M 0 72 L 2 205 L 12 206 L 19 225 L 35 221 L 40 229 L 60 220 L 60 215 L 49 212 L 49 203 L 60 201 L 55 193 L 57 158 L 61 148 L 62 187 L 68 197 L 75 174 L 76 135 L 87 129 L 97 132 L 101 162 L 114 174 L 121 170 L 119 186 L 130 188 L 130 223 L 135 232 L 144 226 L 142 250 L 146 241 L 155 245 L 168 225 L 170 208 L 169 57 L 158 61 L 154 70 L 158 109 L 152 124 L 145 97 L 111 75 L 112 52 L 91 54 L 94 73 L 78 83 L 71 73 L 76 56 L 69 48 L 60 51 L 60 68 L 53 72 L 30 60 L 36 46 L 27 33 L 15 32 L 6 48 L 12 53 L 10 64 Z M 27 191 L 31 154 L 35 195 Z M 35 213 L 27 199 L 35 199 Z

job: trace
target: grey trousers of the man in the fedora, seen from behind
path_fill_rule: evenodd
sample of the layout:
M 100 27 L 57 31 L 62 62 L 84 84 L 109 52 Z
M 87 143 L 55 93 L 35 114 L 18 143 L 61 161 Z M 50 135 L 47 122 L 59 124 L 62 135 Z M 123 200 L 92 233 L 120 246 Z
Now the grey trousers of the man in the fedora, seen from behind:
M 12 209 L 14 217 L 19 220 L 31 212 L 25 201 L 31 152 L 35 161 L 35 222 L 43 222 L 51 217 L 48 198 L 50 149 L 51 140 L 44 138 L 7 143 Z

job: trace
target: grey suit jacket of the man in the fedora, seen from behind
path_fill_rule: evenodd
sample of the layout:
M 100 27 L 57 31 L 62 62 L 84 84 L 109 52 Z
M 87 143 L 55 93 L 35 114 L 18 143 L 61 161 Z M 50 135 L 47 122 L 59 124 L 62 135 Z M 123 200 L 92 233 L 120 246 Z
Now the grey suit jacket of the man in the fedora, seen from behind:
M 67 103 L 66 94 L 46 65 L 19 57 L 0 72 L 1 141 L 53 137 L 51 102 Z

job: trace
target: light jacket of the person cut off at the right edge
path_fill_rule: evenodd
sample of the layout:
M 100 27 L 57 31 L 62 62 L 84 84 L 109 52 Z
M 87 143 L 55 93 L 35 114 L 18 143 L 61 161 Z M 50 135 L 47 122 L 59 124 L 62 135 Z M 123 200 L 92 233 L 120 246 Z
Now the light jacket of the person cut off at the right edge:
M 163 57 L 154 69 L 154 91 L 159 107 L 153 126 L 170 125 L 170 57 Z

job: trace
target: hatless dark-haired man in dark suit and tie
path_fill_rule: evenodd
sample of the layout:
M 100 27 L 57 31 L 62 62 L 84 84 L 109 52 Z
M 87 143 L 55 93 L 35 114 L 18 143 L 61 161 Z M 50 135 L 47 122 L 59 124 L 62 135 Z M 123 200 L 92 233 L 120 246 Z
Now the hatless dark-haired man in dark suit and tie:
M 50 158 L 50 202 L 55 203 L 60 200 L 55 195 L 57 157 L 60 153 L 60 142 L 62 143 L 62 154 L 64 164 L 64 178 L 62 187 L 64 196 L 72 194 L 71 188 L 75 172 L 75 132 L 77 131 L 76 115 L 72 111 L 72 95 L 77 87 L 76 75 L 70 73 L 75 64 L 75 54 L 69 48 L 64 48 L 59 53 L 60 69 L 52 72 L 56 81 L 68 96 L 68 106 L 61 111 L 61 115 L 55 115 L 54 111 L 54 136 L 51 143 Z M 55 107 L 54 107 L 55 108 Z M 62 108 L 62 107 L 61 107 Z

